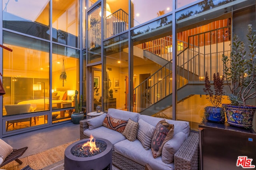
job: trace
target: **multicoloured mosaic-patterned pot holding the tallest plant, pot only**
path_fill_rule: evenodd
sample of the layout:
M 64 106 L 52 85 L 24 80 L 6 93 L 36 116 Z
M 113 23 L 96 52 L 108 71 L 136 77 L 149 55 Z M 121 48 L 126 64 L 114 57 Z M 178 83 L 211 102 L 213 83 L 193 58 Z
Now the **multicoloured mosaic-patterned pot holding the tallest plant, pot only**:
M 228 124 L 250 128 L 252 127 L 252 120 L 256 107 L 254 106 L 231 106 L 228 104 L 222 104 L 224 106 Z

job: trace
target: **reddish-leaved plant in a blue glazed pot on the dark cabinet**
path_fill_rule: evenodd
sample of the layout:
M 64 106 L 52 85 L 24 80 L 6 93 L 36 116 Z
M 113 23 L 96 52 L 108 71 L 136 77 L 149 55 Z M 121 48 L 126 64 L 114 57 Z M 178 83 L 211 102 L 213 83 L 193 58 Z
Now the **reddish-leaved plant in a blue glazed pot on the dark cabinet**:
M 224 78 L 220 76 L 220 73 L 213 74 L 213 88 L 210 84 L 208 72 L 205 72 L 204 77 L 204 92 L 206 93 L 206 99 L 212 104 L 212 106 L 207 106 L 204 108 L 203 120 L 224 123 L 225 113 L 224 109 L 220 107 L 222 100 L 224 99 Z

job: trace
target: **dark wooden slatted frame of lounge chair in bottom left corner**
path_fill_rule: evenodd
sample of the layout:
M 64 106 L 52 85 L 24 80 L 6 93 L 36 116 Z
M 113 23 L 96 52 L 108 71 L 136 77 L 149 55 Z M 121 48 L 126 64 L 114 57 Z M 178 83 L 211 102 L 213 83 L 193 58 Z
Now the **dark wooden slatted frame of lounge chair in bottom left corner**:
M 3 161 L 3 163 L 0 165 L 0 167 L 12 162 L 15 160 L 19 164 L 22 164 L 22 161 L 18 159 L 20 156 L 24 154 L 24 152 L 28 149 L 28 147 L 20 148 L 20 149 L 13 149 L 12 153 L 9 154 Z

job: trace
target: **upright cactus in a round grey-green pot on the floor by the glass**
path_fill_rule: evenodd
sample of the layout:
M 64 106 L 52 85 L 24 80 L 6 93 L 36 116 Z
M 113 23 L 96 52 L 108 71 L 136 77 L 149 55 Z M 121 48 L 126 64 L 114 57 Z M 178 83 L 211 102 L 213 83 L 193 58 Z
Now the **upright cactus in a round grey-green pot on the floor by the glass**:
M 82 111 L 83 96 L 80 96 L 80 102 L 78 103 L 78 91 L 75 92 L 75 111 L 71 115 L 71 120 L 74 124 L 79 124 L 79 121 L 84 119 L 84 112 Z

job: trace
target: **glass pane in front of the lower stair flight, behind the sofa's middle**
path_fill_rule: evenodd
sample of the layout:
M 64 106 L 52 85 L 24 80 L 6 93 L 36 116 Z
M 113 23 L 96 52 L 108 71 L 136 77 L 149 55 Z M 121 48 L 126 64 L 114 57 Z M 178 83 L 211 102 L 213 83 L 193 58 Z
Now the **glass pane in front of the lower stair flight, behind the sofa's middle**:
M 161 31 L 159 31 L 161 30 Z M 134 29 L 133 74 L 134 111 L 144 113 L 156 102 L 172 93 L 172 16 Z M 171 100 L 161 103 L 171 106 Z M 161 106 L 161 107 L 162 107 Z M 152 114 L 158 112 L 150 109 Z M 168 117 L 172 114 L 169 112 Z

